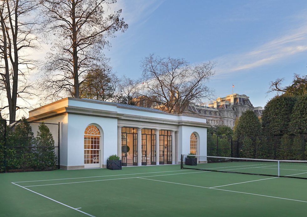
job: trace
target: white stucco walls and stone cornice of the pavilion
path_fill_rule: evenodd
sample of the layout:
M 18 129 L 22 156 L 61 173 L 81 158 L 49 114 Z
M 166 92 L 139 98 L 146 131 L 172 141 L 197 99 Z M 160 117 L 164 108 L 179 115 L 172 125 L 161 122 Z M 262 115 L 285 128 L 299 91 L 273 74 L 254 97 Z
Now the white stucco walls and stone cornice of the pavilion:
M 30 111 L 29 119 L 60 122 L 60 165 L 67 169 L 84 168 L 84 131 L 91 124 L 101 131 L 100 167 L 105 167 L 108 156 L 118 153 L 118 126 L 176 131 L 176 139 L 173 138 L 176 141 L 175 163 L 180 161 L 181 154 L 190 153 L 193 132 L 198 135 L 197 154 L 207 154 L 208 125 L 205 118 L 140 110 L 142 108 L 126 108 L 102 101 L 65 98 Z

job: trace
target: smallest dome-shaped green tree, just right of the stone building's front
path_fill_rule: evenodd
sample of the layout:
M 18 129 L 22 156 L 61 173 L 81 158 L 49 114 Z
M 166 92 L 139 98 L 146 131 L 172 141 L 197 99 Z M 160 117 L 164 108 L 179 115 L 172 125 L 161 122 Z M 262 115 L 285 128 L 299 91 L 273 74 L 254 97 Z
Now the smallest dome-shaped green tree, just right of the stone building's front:
M 234 136 L 238 137 L 256 137 L 261 135 L 261 124 L 252 110 L 247 110 L 239 118 L 234 132 Z

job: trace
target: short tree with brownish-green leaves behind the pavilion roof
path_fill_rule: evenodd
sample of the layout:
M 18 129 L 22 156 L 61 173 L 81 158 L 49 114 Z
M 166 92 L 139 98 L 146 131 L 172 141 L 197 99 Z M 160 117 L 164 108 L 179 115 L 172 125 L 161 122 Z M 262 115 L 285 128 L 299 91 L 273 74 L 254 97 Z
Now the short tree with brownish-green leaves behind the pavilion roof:
M 93 69 L 86 74 L 84 82 L 80 85 L 81 98 L 109 101 L 114 98 L 117 90 L 118 78 L 112 73 L 112 68 Z

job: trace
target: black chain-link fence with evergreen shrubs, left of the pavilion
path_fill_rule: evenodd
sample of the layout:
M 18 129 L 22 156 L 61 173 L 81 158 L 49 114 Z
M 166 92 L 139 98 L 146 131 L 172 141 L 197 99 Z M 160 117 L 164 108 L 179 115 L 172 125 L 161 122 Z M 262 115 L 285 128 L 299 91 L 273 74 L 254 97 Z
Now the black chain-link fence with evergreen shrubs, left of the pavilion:
M 59 168 L 59 124 L 0 120 L 0 173 Z

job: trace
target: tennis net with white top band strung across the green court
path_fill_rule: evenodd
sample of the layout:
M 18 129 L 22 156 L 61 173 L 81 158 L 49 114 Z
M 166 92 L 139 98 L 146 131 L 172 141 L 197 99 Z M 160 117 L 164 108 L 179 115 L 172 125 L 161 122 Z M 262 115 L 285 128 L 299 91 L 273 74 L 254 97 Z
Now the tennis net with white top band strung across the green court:
M 307 179 L 307 161 L 181 155 L 181 169 Z

